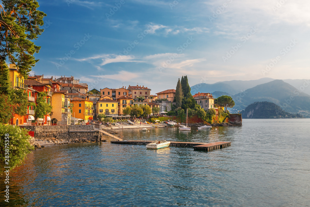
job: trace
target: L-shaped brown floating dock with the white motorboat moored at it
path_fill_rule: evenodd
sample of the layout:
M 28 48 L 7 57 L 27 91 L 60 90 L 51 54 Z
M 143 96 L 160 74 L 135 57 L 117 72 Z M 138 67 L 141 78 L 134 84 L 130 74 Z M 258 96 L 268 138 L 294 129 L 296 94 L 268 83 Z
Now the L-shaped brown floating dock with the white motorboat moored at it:
M 128 144 L 128 145 L 147 145 L 154 141 L 112 141 L 113 144 Z M 194 150 L 211 151 L 230 146 L 231 142 L 214 142 L 214 143 L 201 143 L 201 142 L 170 142 L 169 146 L 179 147 L 193 147 Z

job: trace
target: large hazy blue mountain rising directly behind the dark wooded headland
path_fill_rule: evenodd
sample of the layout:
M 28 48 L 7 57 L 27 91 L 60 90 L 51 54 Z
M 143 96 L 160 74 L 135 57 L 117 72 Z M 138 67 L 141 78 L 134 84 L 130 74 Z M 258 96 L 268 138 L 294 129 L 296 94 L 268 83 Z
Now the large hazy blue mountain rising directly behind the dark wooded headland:
M 232 98 L 236 103 L 234 110 L 243 110 L 254 102 L 269 101 L 279 105 L 286 112 L 310 115 L 310 96 L 299 92 L 283 80 L 257 85 L 233 95 Z

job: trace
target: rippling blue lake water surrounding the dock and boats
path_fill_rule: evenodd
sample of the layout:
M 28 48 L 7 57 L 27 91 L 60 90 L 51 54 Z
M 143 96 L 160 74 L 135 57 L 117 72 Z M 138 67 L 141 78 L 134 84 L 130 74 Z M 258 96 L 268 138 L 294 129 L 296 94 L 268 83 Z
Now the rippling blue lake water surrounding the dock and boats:
M 10 173 L 6 206 L 309 206 L 309 126 L 310 119 L 243 119 L 199 132 L 121 131 L 127 140 L 232 142 L 211 152 L 48 146 Z

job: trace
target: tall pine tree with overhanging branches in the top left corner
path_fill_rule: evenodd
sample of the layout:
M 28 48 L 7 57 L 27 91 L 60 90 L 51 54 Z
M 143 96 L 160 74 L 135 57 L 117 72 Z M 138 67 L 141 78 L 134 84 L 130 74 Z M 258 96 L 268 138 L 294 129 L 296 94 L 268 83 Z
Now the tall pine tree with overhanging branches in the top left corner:
M 43 32 L 43 17 L 46 14 L 37 10 L 39 4 L 35 0 L 2 0 L 0 5 L 0 66 L 8 59 L 19 68 L 19 73 L 27 77 L 38 60 L 34 53 L 40 48 L 32 40 Z M 1 84 L 1 83 L 0 83 Z

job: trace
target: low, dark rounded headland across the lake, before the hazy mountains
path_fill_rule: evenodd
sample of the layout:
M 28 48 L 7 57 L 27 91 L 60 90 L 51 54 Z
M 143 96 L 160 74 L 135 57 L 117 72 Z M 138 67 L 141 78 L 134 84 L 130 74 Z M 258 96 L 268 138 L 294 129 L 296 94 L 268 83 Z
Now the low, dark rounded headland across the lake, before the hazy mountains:
M 263 101 L 250 104 L 241 111 L 242 119 L 269 119 L 280 117 L 296 117 L 285 112 L 280 106 L 272 102 Z

